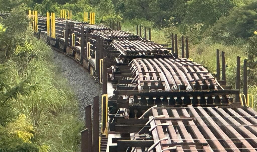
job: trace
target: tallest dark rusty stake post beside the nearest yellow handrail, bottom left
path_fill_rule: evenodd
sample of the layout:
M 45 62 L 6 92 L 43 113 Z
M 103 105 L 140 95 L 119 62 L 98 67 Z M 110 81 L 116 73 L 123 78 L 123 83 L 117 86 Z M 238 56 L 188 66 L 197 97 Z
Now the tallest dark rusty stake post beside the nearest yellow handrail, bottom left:
M 93 152 L 99 151 L 99 97 L 95 96 L 93 105 Z

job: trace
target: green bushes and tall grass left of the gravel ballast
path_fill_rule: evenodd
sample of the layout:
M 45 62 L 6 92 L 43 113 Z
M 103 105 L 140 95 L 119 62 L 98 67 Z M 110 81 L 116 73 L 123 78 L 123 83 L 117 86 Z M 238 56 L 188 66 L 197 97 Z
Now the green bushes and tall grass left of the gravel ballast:
M 0 22 L 0 151 L 78 151 L 82 123 L 74 94 L 25 11 L 11 14 Z

